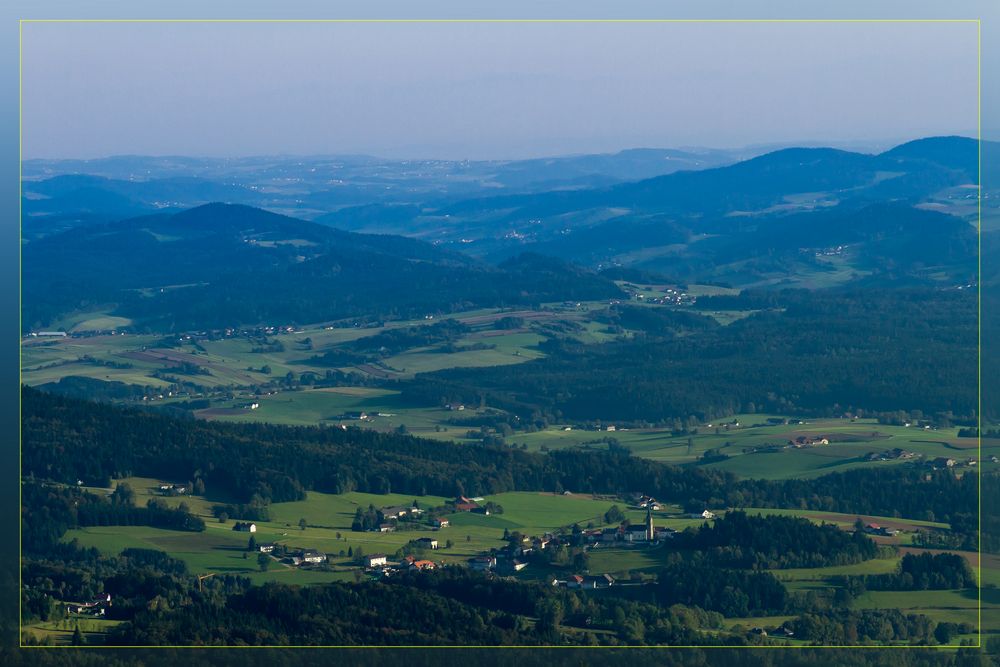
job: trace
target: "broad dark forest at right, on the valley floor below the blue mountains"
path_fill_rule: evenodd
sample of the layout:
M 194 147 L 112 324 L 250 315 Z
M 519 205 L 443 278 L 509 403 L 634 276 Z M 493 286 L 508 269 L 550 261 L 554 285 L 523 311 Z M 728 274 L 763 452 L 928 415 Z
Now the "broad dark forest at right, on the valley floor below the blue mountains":
M 694 336 L 644 336 L 604 345 L 552 341 L 516 366 L 418 375 L 413 400 L 475 402 L 552 419 L 670 423 L 738 412 L 843 414 L 921 410 L 971 420 L 976 412 L 976 296 L 971 290 L 744 292 L 697 309 L 759 310 Z M 646 318 L 650 319 L 650 318 Z

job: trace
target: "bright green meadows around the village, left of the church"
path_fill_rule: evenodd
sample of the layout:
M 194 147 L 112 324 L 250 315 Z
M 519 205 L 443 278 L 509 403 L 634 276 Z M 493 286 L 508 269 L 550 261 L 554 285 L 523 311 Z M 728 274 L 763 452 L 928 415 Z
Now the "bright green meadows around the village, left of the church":
M 145 504 L 150 497 L 160 497 L 157 491 L 160 483 L 177 480 L 129 478 L 123 481 L 128 482 L 136 491 L 135 502 Z M 70 530 L 64 539 L 76 539 L 82 546 L 95 547 L 108 554 L 117 554 L 129 547 L 166 551 L 185 561 L 195 573 L 233 572 L 263 580 L 277 576 L 275 572 L 280 572 L 285 567 L 276 564 L 271 571 L 258 573 L 256 561 L 243 558 L 249 536 L 234 532 L 232 519 L 225 523 L 215 519 L 211 512 L 212 502 L 196 496 L 169 497 L 164 500 L 172 506 L 186 503 L 192 512 L 205 519 L 206 530 L 203 533 L 188 533 L 146 526 L 102 526 Z M 447 518 L 452 525 L 439 531 L 423 525 L 415 526 L 414 530 L 401 529 L 391 533 L 351 531 L 351 522 L 358 507 L 367 508 L 369 504 L 376 508 L 410 505 L 414 500 L 421 507 L 427 508 L 440 506 L 446 499 L 436 496 L 414 498 L 398 494 L 332 495 L 309 492 L 306 500 L 272 505 L 271 520 L 257 522 L 258 530 L 254 537 L 258 542 L 278 542 L 290 547 L 320 550 L 330 555 L 331 564 L 335 568 L 342 569 L 353 567 L 353 563 L 346 555 L 340 556 L 341 551 L 346 554 L 348 549 L 357 551 L 360 547 L 366 554 L 392 554 L 411 539 L 433 534 L 442 547 L 434 552 L 434 560 L 462 562 L 491 548 L 502 547 L 505 544 L 505 528 L 521 531 L 526 535 L 541 535 L 573 523 L 584 526 L 593 523 L 600 526 L 604 512 L 616 504 L 611 499 L 595 499 L 591 496 L 505 493 L 484 499 L 484 502 L 492 500 L 502 505 L 505 510 L 503 514 L 451 514 Z M 624 509 L 622 503 L 617 504 Z M 663 525 L 680 528 L 697 523 L 690 519 L 668 519 L 667 513 L 660 514 Z M 641 521 L 644 517 L 644 513 L 637 510 L 628 511 L 627 515 L 633 521 Z M 305 519 L 308 524 L 305 530 L 299 528 L 300 519 Z M 453 546 L 446 548 L 445 542 L 449 539 Z M 287 578 L 307 583 L 307 580 L 311 582 L 338 578 L 337 572 L 285 569 L 288 571 L 282 575 L 283 580 Z M 342 573 L 339 574 L 342 576 Z

